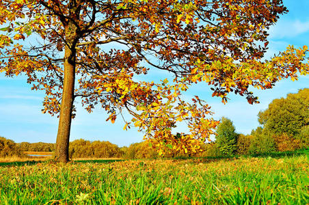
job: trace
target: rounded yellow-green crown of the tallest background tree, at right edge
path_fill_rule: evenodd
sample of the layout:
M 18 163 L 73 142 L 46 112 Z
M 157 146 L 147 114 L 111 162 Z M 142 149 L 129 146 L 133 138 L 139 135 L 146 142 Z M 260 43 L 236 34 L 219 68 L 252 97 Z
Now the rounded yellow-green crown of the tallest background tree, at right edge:
M 309 124 L 309 88 L 273 100 L 268 109 L 258 113 L 258 121 L 263 125 L 265 133 L 286 133 L 296 137 Z

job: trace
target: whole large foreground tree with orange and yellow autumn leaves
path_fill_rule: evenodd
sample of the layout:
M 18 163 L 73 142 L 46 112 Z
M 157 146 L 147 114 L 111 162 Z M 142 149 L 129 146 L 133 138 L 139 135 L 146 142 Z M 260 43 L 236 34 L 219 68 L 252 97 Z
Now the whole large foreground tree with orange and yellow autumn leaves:
M 57 161 L 68 161 L 77 98 L 89 112 L 103 107 L 112 123 L 129 111 L 125 128 L 144 130 L 159 152 L 196 152 L 218 122 L 198 96 L 180 98 L 189 85 L 204 81 L 223 102 L 235 92 L 254 103 L 250 86 L 308 72 L 306 46 L 262 60 L 267 29 L 286 12 L 281 0 L 2 0 L 0 72 L 46 92 L 43 112 L 59 115 Z M 150 69 L 172 81 L 137 81 Z M 190 134 L 176 139 L 180 121 Z

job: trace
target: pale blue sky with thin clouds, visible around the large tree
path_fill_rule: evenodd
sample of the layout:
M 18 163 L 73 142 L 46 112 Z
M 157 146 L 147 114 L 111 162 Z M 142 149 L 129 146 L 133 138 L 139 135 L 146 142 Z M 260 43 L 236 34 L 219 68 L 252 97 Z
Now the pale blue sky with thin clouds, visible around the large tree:
M 296 47 L 309 46 L 309 1 L 284 0 L 284 5 L 290 12 L 281 16 L 278 23 L 271 27 L 266 58 L 284 51 L 288 44 Z M 164 75 L 162 78 L 165 78 Z M 286 94 L 295 93 L 304 87 L 309 87 L 309 76 L 301 76 L 294 82 L 282 80 L 271 90 L 252 90 L 260 100 L 260 104 L 256 105 L 250 105 L 245 98 L 233 94 L 230 94 L 230 101 L 224 105 L 220 98 L 211 97 L 209 87 L 204 84 L 193 85 L 185 98 L 198 94 L 211 105 L 212 111 L 215 112 L 213 118 L 230 118 L 238 133 L 249 134 L 258 126 L 258 111 L 267 109 L 273 99 L 286 97 Z M 0 73 L 0 136 L 16 142 L 54 143 L 58 119 L 41 113 L 43 98 L 44 93 L 30 90 L 25 78 L 9 79 Z M 76 105 L 77 117 L 72 121 L 70 141 L 83 138 L 91 141 L 110 141 L 118 146 L 129 146 L 131 143 L 142 141 L 143 134 L 135 128 L 123 131 L 124 122 L 120 118 L 115 124 L 111 124 L 105 122 L 107 115 L 102 109 L 96 109 L 89 114 L 81 108 L 81 103 L 77 102 Z M 178 127 L 178 131 L 182 129 Z

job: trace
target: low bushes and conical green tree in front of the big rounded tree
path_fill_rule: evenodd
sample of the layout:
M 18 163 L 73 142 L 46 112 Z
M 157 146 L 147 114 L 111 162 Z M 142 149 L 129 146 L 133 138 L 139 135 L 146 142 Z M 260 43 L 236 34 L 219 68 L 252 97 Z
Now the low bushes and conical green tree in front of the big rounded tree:
M 232 121 L 221 118 L 221 124 L 217 128 L 217 139 L 205 144 L 201 155 L 256 155 L 308 148 L 308 135 L 299 137 L 288 133 L 267 133 L 262 127 L 253 130 L 250 135 L 238 134 L 234 131 Z

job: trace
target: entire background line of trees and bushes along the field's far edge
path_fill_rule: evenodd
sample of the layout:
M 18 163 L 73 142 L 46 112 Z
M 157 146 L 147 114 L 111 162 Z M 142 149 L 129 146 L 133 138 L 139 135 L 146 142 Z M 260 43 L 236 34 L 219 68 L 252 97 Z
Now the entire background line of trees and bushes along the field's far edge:
M 235 132 L 232 121 L 221 118 L 217 126 L 216 140 L 201 143 L 197 154 L 177 153 L 170 148 L 165 156 L 159 156 L 148 141 L 119 148 L 109 141 L 77 139 L 70 142 L 70 158 L 159 158 L 175 156 L 231 156 L 234 154 L 263 154 L 308 148 L 309 146 L 309 89 L 288 94 L 286 98 L 273 100 L 268 109 L 258 113 L 261 126 L 250 135 Z M 53 152 L 55 143 L 14 143 L 0 137 L 0 157 L 22 156 L 23 152 Z

